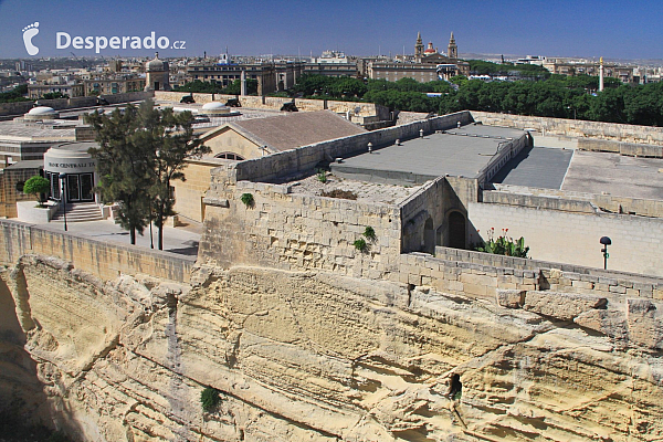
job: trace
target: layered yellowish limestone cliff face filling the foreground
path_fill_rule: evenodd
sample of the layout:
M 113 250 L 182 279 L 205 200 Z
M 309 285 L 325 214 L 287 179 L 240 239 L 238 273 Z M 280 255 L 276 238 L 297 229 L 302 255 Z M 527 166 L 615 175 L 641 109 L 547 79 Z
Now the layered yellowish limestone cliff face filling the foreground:
M 0 406 L 80 440 L 663 439 L 652 299 L 492 304 L 255 267 L 103 282 L 42 256 L 2 276 Z

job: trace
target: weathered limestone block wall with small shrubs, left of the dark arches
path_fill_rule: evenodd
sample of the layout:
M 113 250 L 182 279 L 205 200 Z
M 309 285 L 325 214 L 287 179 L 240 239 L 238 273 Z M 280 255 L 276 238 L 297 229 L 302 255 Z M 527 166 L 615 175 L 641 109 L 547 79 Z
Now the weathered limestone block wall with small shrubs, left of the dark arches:
M 223 181 L 212 171 L 214 181 Z M 253 204 L 241 197 L 249 193 Z M 401 246 L 397 207 L 290 193 L 286 185 L 239 181 L 212 190 L 207 203 L 199 259 L 228 269 L 262 265 L 282 270 L 326 270 L 379 280 L 398 271 Z M 376 240 L 364 236 L 367 227 Z M 354 242 L 364 239 L 367 248 Z

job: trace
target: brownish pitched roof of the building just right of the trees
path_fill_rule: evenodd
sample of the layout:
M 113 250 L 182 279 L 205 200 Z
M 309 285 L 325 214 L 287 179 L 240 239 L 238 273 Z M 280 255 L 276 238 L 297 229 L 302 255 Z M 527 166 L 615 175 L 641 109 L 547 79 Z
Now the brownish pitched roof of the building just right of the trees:
M 293 112 L 274 117 L 233 122 L 228 126 L 253 143 L 267 146 L 274 151 L 367 131 L 332 110 Z

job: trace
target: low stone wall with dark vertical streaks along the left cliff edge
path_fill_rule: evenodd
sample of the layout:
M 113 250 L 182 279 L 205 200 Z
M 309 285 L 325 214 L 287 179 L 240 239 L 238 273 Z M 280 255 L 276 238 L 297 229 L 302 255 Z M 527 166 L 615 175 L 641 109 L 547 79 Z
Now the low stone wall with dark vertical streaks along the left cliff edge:
M 189 282 L 196 259 L 53 232 L 17 221 L 0 220 L 0 264 L 13 265 L 24 254 L 56 256 L 102 280 L 118 274 L 148 274 Z

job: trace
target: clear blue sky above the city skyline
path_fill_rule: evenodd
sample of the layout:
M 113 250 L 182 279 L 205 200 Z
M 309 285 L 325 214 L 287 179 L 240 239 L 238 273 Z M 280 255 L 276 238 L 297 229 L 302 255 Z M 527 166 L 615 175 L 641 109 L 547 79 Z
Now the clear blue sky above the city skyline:
M 227 46 L 231 55 L 389 55 L 413 53 L 418 32 L 424 44 L 446 52 L 452 31 L 461 54 L 663 59 L 662 22 L 663 0 L 0 0 L 0 59 L 94 56 L 97 50 L 105 57 L 157 50 L 215 56 Z M 138 39 L 126 39 L 123 49 L 123 36 Z M 168 39 L 160 40 L 167 49 L 158 49 L 159 38 Z M 137 41 L 140 49 L 131 49 Z

